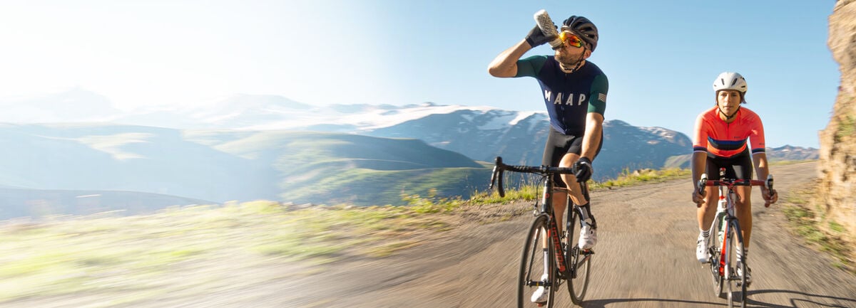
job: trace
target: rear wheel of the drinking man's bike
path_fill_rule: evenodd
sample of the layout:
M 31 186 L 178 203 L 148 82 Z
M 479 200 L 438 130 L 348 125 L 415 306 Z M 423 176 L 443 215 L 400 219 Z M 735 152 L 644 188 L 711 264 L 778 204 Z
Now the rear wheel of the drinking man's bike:
M 578 243 L 580 239 L 575 236 L 580 234 L 582 221 L 574 207 L 568 206 L 568 224 L 565 240 L 568 241 L 565 251 L 565 262 L 568 264 L 568 293 L 571 301 L 576 305 L 582 304 L 588 290 L 589 273 L 591 272 L 591 258 L 593 254 L 583 254 Z

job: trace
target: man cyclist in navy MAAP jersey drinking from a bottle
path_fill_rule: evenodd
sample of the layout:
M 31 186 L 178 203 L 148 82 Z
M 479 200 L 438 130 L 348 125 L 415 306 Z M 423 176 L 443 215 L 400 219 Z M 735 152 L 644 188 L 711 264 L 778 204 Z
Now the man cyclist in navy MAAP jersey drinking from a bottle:
M 586 61 L 597 48 L 597 27 L 586 17 L 571 16 L 562 23 L 562 44 L 555 54 L 532 55 L 520 59 L 526 51 L 552 41 L 535 26 L 526 38 L 502 51 L 490 62 L 488 73 L 494 77 L 532 77 L 541 85 L 541 95 L 550 115 L 550 135 L 544 145 L 544 166 L 576 166 L 573 175 L 555 178 L 553 208 L 561 228 L 568 191 L 571 200 L 581 205 L 585 222 L 580 230 L 579 246 L 591 249 L 597 243 L 597 222 L 577 182 L 591 178 L 591 161 L 603 143 L 603 110 L 609 84 L 606 75 L 594 63 Z M 573 185 L 570 183 L 574 183 Z M 532 301 L 546 301 L 544 288 L 532 294 Z

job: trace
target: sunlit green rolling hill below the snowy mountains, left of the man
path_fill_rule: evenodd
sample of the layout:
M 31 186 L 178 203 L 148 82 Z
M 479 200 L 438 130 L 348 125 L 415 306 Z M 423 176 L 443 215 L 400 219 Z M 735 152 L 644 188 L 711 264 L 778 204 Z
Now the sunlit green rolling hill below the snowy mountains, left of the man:
M 490 177 L 490 169 L 466 156 L 416 139 L 305 131 L 207 131 L 188 137 L 270 164 L 278 171 L 280 199 L 294 202 L 401 204 L 401 195 L 433 189 L 438 196 L 467 196 Z

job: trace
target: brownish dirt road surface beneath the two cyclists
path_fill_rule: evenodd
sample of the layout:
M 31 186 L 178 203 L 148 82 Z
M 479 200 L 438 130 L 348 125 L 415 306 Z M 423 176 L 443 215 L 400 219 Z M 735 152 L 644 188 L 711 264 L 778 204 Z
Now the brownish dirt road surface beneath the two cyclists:
M 816 177 L 817 163 L 774 166 L 780 196 Z M 592 211 L 599 242 L 584 307 L 722 307 L 707 270 L 695 259 L 698 226 L 688 180 L 600 190 Z M 786 230 L 781 207 L 752 194 L 749 264 L 751 307 L 856 307 L 856 276 L 805 247 Z M 781 198 L 780 198 L 781 200 Z M 504 206 L 523 206 L 520 204 Z M 324 265 L 324 271 L 282 283 L 288 307 L 514 307 L 514 279 L 531 215 L 467 224 L 386 259 Z M 564 287 L 562 287 L 564 288 Z M 567 290 L 567 289 L 565 289 Z M 258 291 L 258 290 L 257 290 Z M 561 291 L 561 290 L 560 290 Z M 557 306 L 573 306 L 557 292 Z

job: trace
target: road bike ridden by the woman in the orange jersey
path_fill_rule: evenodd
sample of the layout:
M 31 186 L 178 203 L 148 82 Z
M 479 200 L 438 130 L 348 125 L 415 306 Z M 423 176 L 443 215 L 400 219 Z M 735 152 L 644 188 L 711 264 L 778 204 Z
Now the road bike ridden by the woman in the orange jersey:
M 702 174 L 696 185 L 699 194 L 704 194 L 705 186 L 719 187 L 719 201 L 716 206 L 716 217 L 710 224 L 707 238 L 707 251 L 710 255 L 710 275 L 713 277 L 713 290 L 716 296 L 722 297 L 723 285 L 728 285 L 728 307 L 734 307 L 734 291 L 740 289 L 740 306 L 746 307 L 746 259 L 735 251 L 743 249 L 746 242 L 740 232 L 740 221 L 734 216 L 735 186 L 761 186 L 773 191 L 773 176 L 768 175 L 766 181 L 725 178 L 725 168 L 719 170 L 719 180 L 708 180 L 707 174 Z M 740 266 L 740 269 L 738 269 Z

